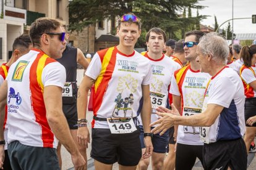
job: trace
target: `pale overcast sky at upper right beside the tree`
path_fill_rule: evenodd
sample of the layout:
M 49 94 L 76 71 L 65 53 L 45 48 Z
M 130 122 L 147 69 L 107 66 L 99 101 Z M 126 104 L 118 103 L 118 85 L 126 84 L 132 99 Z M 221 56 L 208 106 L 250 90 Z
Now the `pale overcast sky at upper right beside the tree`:
M 202 20 L 203 25 L 210 25 L 214 28 L 216 15 L 218 25 L 226 20 L 232 19 L 232 1 L 234 2 L 234 18 L 250 18 L 234 20 L 234 33 L 256 33 L 256 23 L 252 23 L 252 15 L 256 15 L 256 0 L 203 0 L 198 1 L 201 6 L 207 6 L 200 9 L 199 15 L 210 15 L 207 19 Z M 196 10 L 192 13 L 196 16 Z M 232 20 L 230 21 L 232 26 Z M 228 26 L 224 23 L 221 28 Z

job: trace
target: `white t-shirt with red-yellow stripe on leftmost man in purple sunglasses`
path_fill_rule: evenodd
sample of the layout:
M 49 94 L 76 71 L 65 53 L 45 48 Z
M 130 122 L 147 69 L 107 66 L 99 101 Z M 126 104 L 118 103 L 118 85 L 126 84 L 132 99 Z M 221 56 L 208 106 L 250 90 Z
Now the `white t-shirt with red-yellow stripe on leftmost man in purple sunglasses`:
M 64 87 L 66 70 L 36 49 L 12 64 L 7 76 L 8 143 L 56 148 L 58 140 L 46 119 L 45 86 Z

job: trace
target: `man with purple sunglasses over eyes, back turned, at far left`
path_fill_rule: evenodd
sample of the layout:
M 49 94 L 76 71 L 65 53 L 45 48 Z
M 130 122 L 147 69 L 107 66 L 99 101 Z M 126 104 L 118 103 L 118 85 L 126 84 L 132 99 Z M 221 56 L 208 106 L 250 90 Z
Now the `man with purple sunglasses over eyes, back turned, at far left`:
M 7 101 L 7 142 L 12 169 L 60 169 L 56 154 L 58 140 L 71 154 L 75 169 L 86 168 L 62 112 L 61 93 L 66 74 L 65 68 L 54 60 L 61 58 L 66 44 L 61 25 L 51 18 L 38 18 L 32 23 L 29 35 L 33 49 L 9 68 L 0 87 L 0 126 Z M 2 167 L 3 145 L 0 147 Z

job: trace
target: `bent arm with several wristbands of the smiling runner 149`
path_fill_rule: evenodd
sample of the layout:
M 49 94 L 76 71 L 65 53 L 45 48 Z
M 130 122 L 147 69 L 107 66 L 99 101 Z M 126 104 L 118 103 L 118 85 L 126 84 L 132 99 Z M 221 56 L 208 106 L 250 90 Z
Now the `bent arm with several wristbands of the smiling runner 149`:
M 86 119 L 87 103 L 88 103 L 88 91 L 93 86 L 95 79 L 84 76 L 77 92 L 77 116 L 78 119 Z M 88 127 L 79 127 L 77 130 L 77 138 L 80 145 L 85 145 L 88 148 L 88 142 L 90 143 L 90 133 Z

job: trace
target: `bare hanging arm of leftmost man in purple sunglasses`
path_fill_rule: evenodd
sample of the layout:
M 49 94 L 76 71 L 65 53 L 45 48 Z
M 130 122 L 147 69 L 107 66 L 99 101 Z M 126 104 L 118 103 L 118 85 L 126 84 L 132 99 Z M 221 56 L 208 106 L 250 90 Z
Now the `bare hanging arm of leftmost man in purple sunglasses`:
M 43 99 L 46 108 L 46 119 L 59 142 L 67 149 L 72 157 L 75 168 L 85 168 L 85 160 L 79 153 L 69 131 L 67 120 L 62 112 L 62 88 L 45 86 Z M 65 134 L 65 135 L 63 135 Z

